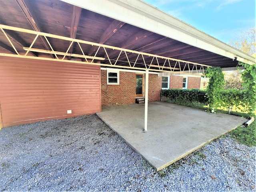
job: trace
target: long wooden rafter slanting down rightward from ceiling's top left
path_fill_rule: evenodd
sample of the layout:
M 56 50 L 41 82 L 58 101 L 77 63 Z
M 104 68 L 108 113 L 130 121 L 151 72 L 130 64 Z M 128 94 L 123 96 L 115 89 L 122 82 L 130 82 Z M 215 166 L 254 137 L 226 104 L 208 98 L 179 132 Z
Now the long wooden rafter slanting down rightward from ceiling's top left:
M 38 25 L 38 22 L 37 22 L 36 14 L 34 13 L 33 9 L 30 8 L 29 3 L 28 2 L 25 3 L 24 0 L 16 0 L 16 1 L 20 5 L 20 8 L 24 12 L 26 18 L 30 22 L 34 31 L 41 32 L 40 26 Z M 47 50 L 50 50 L 51 48 L 50 48 L 48 42 L 42 36 L 39 36 L 39 38 L 40 38 L 42 44 L 44 45 L 44 48 Z M 54 55 L 51 54 L 51 56 L 52 56 L 52 58 L 54 58 Z

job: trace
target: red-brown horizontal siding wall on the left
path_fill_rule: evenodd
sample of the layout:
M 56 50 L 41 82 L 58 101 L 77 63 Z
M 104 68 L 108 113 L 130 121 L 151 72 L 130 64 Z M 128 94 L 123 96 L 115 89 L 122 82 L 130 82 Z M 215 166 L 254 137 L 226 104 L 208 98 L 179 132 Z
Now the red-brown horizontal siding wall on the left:
M 100 66 L 0 60 L 1 127 L 100 112 Z

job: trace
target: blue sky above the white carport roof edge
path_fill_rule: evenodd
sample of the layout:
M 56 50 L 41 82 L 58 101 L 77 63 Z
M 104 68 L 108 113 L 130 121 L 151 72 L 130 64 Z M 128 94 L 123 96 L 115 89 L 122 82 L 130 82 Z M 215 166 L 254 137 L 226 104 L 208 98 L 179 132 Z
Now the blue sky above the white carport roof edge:
M 255 0 L 144 0 L 228 43 L 255 28 Z

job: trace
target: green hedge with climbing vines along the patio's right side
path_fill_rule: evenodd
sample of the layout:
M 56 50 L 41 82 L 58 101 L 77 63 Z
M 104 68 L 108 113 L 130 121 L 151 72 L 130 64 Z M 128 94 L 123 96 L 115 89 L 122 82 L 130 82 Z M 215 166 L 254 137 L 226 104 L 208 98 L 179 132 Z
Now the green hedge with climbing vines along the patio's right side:
M 256 64 L 249 65 L 240 63 L 244 66 L 242 71 L 243 90 L 229 89 L 224 90 L 224 74 L 219 67 L 207 68 L 205 76 L 209 78 L 209 84 L 205 91 L 203 90 L 162 90 L 162 96 L 165 96 L 176 104 L 188 106 L 207 105 L 208 111 L 214 111 L 218 108 L 228 109 L 232 113 L 233 107 L 246 113 L 248 116 L 256 114 Z

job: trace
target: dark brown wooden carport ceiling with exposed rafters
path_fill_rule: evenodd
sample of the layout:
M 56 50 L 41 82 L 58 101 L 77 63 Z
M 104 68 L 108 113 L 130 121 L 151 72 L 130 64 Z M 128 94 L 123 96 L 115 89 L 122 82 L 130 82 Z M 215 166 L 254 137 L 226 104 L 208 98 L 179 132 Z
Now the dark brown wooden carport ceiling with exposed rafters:
M 212 52 L 190 46 L 177 40 L 132 26 L 130 24 L 103 16 L 90 10 L 73 6 L 60 0 L 0 0 L 0 24 L 26 28 L 39 32 L 46 32 L 160 56 L 196 62 L 210 66 L 234 67 L 238 61 L 214 54 Z M 34 39 L 24 33 L 8 31 L 8 36 L 18 47 L 18 52 L 25 52 Z M 66 52 L 69 44 L 55 39 L 49 39 L 55 50 Z M 49 45 L 43 38 L 36 40 L 35 48 L 50 50 Z M 94 55 L 95 46 L 84 46 L 84 54 Z M 15 54 L 9 42 L 0 32 L 0 52 Z M 81 54 L 80 48 L 74 44 L 70 53 Z M 34 56 L 42 56 L 33 53 Z M 106 57 L 104 52 L 100 52 Z M 112 51 L 111 58 L 118 57 L 119 52 Z M 54 58 L 54 55 L 51 55 Z M 128 56 L 135 60 L 133 56 Z M 71 59 L 71 57 L 69 57 Z M 126 60 L 125 54 L 120 60 Z M 103 61 L 108 62 L 108 60 Z M 156 64 L 156 63 L 153 63 Z M 119 65 L 128 65 L 122 62 Z M 143 67 L 143 65 L 142 65 Z

